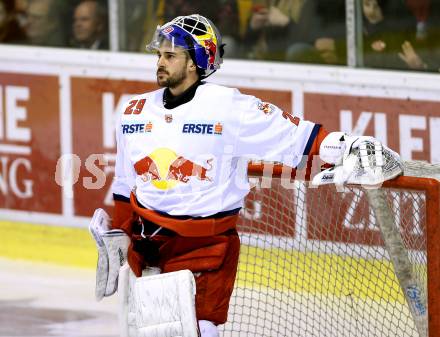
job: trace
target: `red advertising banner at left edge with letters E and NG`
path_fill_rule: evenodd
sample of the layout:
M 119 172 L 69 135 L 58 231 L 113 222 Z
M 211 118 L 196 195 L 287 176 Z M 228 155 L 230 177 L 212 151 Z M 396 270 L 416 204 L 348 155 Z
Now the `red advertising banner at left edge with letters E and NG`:
M 57 76 L 0 73 L 0 208 L 61 214 Z

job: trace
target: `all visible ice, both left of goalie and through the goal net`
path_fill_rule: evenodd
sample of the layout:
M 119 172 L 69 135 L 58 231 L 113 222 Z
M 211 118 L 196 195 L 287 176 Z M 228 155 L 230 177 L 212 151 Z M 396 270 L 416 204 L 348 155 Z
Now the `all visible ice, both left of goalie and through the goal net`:
M 94 288 L 93 269 L 0 258 L 0 337 L 118 336 L 117 295 L 97 302 Z M 220 336 L 417 336 L 405 304 L 355 300 L 239 286 Z

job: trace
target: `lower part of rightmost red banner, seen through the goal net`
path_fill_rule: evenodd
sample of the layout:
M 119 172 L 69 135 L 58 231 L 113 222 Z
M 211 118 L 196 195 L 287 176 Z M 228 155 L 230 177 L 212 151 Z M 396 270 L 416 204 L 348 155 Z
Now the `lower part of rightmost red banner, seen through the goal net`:
M 426 199 L 415 191 L 387 192 L 389 204 L 405 245 L 426 249 Z M 328 185 L 307 190 L 307 238 L 368 246 L 383 245 L 380 225 L 361 188 L 338 191 Z

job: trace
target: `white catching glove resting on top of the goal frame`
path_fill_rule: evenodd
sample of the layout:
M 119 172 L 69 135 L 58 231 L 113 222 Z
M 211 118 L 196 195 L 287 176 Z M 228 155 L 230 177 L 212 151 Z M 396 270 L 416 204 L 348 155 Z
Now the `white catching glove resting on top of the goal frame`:
M 403 172 L 400 156 L 373 137 L 331 132 L 322 141 L 319 156 L 335 166 L 317 174 L 313 185 L 378 185 Z

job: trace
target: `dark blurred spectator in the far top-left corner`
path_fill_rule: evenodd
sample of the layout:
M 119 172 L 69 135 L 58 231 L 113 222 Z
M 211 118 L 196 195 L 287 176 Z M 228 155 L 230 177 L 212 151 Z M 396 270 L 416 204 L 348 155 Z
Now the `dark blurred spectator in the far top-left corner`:
M 13 0 L 0 0 L 0 43 L 24 40 L 24 32 L 14 16 Z

